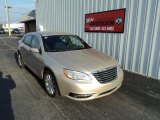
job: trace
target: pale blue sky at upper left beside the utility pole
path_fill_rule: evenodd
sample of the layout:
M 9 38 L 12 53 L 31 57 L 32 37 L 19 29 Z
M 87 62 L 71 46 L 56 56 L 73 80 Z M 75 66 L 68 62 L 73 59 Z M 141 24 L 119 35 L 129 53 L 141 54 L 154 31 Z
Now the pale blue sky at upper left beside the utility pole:
M 35 9 L 34 0 L 8 0 L 11 23 L 19 22 L 24 13 Z M 5 0 L 0 0 L 0 23 L 7 23 Z

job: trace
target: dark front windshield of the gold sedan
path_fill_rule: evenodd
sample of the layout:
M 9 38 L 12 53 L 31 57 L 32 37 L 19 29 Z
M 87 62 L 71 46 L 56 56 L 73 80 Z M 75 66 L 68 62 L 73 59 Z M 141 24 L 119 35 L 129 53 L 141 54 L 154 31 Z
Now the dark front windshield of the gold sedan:
M 46 52 L 63 52 L 91 48 L 76 35 L 43 36 L 42 39 Z

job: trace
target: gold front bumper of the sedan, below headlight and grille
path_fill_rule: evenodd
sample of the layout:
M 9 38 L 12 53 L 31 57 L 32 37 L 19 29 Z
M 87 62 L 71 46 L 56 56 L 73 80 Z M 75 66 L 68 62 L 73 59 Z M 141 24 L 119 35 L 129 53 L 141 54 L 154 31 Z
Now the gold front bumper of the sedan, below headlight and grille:
M 120 70 L 118 78 L 105 84 L 99 83 L 94 77 L 90 82 L 73 81 L 65 78 L 63 88 L 60 90 L 62 96 L 77 101 L 92 100 L 104 97 L 115 92 L 123 82 L 123 71 Z

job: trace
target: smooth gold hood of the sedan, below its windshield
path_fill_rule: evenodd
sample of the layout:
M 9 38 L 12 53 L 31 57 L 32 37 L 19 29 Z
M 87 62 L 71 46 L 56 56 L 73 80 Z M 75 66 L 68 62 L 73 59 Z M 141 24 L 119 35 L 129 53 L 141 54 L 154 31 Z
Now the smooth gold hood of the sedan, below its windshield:
M 117 66 L 117 62 L 114 59 L 92 48 L 65 52 L 48 52 L 47 54 L 62 64 L 64 68 L 76 71 L 91 72 Z

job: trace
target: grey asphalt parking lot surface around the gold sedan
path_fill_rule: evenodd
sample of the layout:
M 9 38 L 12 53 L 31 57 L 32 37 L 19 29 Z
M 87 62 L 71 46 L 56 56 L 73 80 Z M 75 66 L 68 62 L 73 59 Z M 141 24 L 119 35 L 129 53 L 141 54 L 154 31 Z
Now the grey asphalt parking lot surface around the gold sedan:
M 125 71 L 114 94 L 86 102 L 50 98 L 15 59 L 18 38 L 0 35 L 0 120 L 159 120 L 160 81 Z

